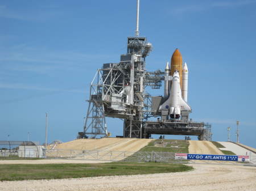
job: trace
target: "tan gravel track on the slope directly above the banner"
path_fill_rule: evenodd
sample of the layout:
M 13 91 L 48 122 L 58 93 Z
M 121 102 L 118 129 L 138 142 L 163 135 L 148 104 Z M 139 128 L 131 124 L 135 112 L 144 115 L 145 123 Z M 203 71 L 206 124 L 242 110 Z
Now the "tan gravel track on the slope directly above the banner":
M 191 154 L 223 155 L 210 141 L 189 141 L 188 151 Z

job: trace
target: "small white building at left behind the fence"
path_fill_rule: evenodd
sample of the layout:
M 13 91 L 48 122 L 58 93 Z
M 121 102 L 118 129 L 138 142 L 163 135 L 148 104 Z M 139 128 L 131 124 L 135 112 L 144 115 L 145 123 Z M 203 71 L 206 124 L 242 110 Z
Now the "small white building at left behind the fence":
M 22 158 L 43 158 L 43 148 L 41 145 L 19 146 L 18 155 Z

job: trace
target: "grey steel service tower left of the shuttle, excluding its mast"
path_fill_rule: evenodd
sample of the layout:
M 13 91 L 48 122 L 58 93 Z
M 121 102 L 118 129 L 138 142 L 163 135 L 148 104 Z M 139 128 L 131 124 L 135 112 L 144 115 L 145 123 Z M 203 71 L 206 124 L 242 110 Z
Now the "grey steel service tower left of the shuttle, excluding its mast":
M 146 72 L 145 58 L 151 44 L 144 37 L 128 37 L 127 54 L 119 63 L 105 63 L 90 83 L 89 106 L 80 137 L 108 134 L 105 117 L 123 118 L 124 137 L 142 138 L 144 121 L 150 117 L 146 86 L 160 88 L 163 73 Z

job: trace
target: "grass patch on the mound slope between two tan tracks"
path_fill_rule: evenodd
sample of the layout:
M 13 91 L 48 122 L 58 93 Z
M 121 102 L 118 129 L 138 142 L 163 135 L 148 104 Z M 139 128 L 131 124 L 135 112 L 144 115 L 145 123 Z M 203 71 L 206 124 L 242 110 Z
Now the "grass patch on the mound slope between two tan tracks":
M 164 144 L 159 145 L 162 139 L 156 139 L 141 148 L 138 152 L 184 152 L 188 153 L 189 142 L 185 140 L 164 139 Z

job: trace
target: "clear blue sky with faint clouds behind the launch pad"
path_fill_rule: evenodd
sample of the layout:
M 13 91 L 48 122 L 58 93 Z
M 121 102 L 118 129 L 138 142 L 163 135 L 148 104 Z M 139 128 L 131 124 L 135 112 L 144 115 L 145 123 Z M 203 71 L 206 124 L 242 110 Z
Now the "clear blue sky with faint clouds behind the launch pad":
M 70 141 L 82 131 L 89 83 L 119 62 L 134 36 L 136 1 L 0 1 L 0 140 Z M 154 46 L 147 69 L 164 69 L 179 48 L 189 69 L 191 118 L 213 140 L 256 147 L 256 1 L 141 0 L 140 34 Z M 163 95 L 161 90 L 152 95 Z M 122 121 L 107 118 L 112 135 Z M 176 138 L 176 136 L 170 136 Z M 184 138 L 184 137 L 179 137 Z M 193 137 L 196 139 L 195 137 Z

